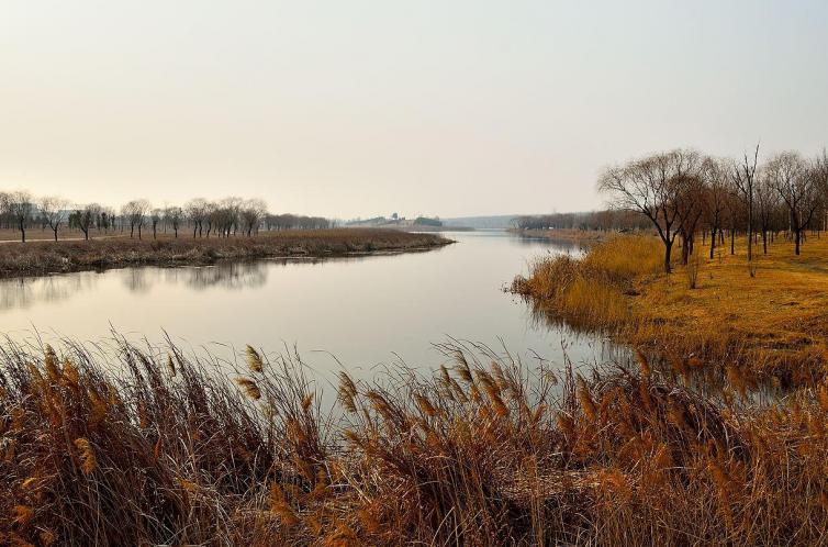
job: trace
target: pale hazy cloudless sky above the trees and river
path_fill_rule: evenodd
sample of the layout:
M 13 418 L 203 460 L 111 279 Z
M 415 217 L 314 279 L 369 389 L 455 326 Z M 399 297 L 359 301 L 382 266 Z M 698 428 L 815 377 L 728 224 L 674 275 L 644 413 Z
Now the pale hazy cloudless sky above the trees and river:
M 828 2 L 0 0 L 0 189 L 443 217 L 828 145 Z

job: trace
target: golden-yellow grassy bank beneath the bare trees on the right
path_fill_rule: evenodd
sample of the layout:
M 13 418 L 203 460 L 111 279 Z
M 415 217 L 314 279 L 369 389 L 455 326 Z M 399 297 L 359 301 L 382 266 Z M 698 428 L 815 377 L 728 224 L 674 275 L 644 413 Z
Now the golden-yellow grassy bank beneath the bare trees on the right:
M 513 288 L 552 317 L 652 349 L 678 369 L 738 365 L 813 383 L 828 355 L 828 239 L 810 238 L 798 257 L 776 242 L 756 255 L 752 272 L 739 243 L 736 255 L 728 247 L 712 260 L 700 249 L 689 267 L 665 276 L 656 238 L 623 236 L 582 260 L 540 260 Z

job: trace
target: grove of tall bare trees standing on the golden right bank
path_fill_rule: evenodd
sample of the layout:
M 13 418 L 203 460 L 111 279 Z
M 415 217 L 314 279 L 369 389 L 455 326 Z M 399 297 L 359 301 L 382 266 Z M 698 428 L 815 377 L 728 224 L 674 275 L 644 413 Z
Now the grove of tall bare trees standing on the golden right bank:
M 748 261 L 760 242 L 768 253 L 780 238 L 798 255 L 809 232 L 828 228 L 828 154 L 783 152 L 760 161 L 759 152 L 740 159 L 659 152 L 607 168 L 598 189 L 616 211 L 636 213 L 658 233 L 667 272 L 676 241 L 686 264 L 700 235 L 710 258 L 727 238 L 734 254 L 737 234 L 748 235 Z

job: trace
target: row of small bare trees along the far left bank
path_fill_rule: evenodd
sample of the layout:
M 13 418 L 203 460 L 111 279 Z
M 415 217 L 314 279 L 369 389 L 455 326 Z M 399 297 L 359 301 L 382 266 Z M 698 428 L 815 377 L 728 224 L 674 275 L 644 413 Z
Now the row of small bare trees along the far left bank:
M 26 241 L 29 230 L 49 230 L 58 239 L 60 230 L 78 230 L 89 239 L 91 234 L 130 234 L 143 238 L 152 232 L 187 231 L 192 237 L 253 237 L 261 230 L 322 230 L 332 227 L 332 221 L 318 216 L 271 214 L 260 199 L 224 198 L 210 201 L 195 198 L 182 206 L 154 206 L 147 200 L 132 200 L 119 210 L 99 203 L 72 204 L 69 200 L 45 196 L 35 198 L 26 190 L 0 191 L 0 227 L 20 232 Z

